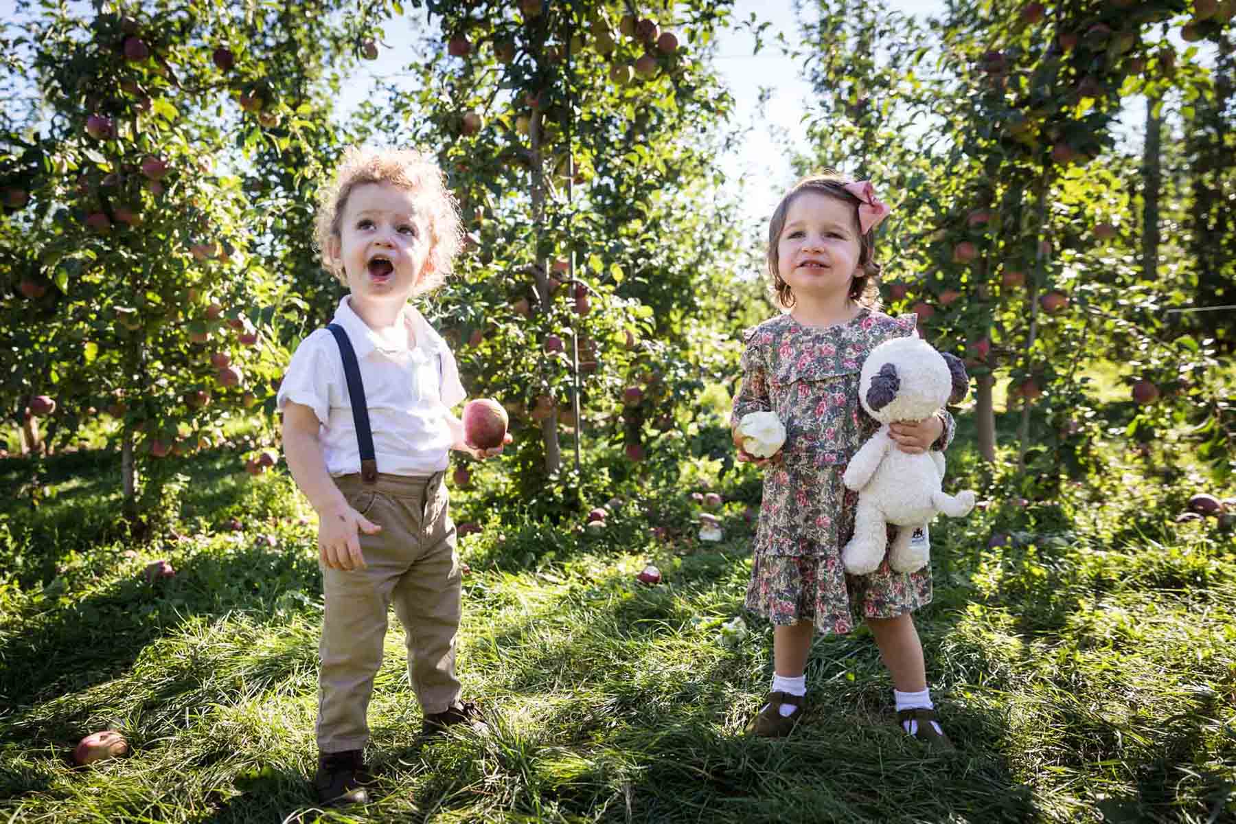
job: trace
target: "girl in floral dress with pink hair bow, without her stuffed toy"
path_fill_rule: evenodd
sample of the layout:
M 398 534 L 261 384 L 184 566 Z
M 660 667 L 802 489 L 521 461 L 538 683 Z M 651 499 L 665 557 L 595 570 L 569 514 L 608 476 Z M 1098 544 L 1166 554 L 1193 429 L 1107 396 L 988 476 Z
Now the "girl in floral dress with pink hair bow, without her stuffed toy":
M 824 174 L 800 180 L 769 225 L 769 273 L 789 311 L 747 332 L 732 418 L 739 461 L 765 471 L 747 608 L 774 625 L 772 688 L 749 730 L 789 735 L 802 715 L 812 635 L 849 633 L 861 619 L 892 676 L 902 728 L 950 749 L 911 619 L 931 602 L 931 568 L 899 573 L 885 558 L 870 574 L 848 576 L 842 565 L 858 500 L 842 474 L 879 429 L 859 404 L 859 371 L 878 343 L 916 334 L 915 315 L 876 309 L 874 230 L 887 212 L 870 183 Z M 737 426 L 753 411 L 774 411 L 785 425 L 785 444 L 771 458 L 742 450 Z M 942 411 L 899 421 L 890 434 L 905 452 L 942 450 L 953 419 Z

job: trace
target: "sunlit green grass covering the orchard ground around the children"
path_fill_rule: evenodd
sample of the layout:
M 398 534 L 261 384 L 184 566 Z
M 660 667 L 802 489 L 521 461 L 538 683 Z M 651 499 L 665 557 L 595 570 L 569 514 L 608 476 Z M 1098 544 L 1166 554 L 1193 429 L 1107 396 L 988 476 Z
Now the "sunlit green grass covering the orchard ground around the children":
M 418 742 L 392 616 L 370 708 L 377 801 L 329 820 L 1189 822 L 1236 817 L 1236 539 L 1175 524 L 1192 484 L 1111 447 L 1103 474 L 1014 499 L 968 452 L 950 483 L 991 502 L 933 526 L 936 599 L 917 616 L 933 696 L 960 747 L 929 756 L 892 723 L 865 629 L 821 637 L 810 708 L 786 741 L 743 728 L 768 689 L 770 633 L 734 645 L 750 570 L 743 498 L 700 545 L 685 489 L 618 489 L 608 529 L 529 523 L 456 494 L 465 579 L 459 670 L 492 734 Z M 1001 416 L 1001 432 L 1015 426 Z M 168 526 L 129 546 L 109 453 L 0 462 L 0 815 L 12 822 L 281 822 L 315 812 L 321 586 L 286 474 L 232 453 L 192 476 Z M 695 471 L 695 469 L 693 469 Z M 482 476 L 483 477 L 483 476 Z M 1167 478 L 1167 479 L 1164 479 Z M 728 486 L 727 486 L 728 484 Z M 1231 494 L 1229 490 L 1227 494 Z M 671 545 L 649 513 L 674 519 Z M 224 529 L 237 516 L 245 529 Z M 993 531 L 1016 544 L 988 549 Z M 267 536 L 273 537 L 273 546 Z M 131 550 L 126 556 L 126 550 Z M 178 574 L 147 583 L 145 565 Z M 649 560 L 658 587 L 634 573 Z M 130 757 L 74 768 L 91 730 Z

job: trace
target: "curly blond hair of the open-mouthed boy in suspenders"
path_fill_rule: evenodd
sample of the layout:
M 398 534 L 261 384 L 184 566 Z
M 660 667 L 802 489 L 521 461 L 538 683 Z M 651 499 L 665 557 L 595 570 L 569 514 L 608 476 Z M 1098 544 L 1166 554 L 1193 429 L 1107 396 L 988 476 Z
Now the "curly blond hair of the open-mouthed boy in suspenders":
M 417 284 L 415 294 L 440 287 L 451 273 L 464 242 L 459 203 L 446 188 L 446 175 L 438 164 L 415 149 L 350 146 L 344 151 L 330 183 L 318 191 L 314 245 L 323 268 L 347 285 L 342 262 L 330 256 L 330 241 L 341 236 L 340 225 L 352 189 L 367 183 L 389 183 L 420 196 L 429 224 L 433 269 Z

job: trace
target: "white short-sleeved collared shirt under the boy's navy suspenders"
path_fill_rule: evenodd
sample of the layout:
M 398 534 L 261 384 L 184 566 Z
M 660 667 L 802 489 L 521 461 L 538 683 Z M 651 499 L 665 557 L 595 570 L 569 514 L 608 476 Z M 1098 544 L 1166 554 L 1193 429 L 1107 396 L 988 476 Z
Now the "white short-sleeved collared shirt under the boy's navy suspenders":
M 356 350 L 378 472 L 407 476 L 445 469 L 454 442 L 447 415 L 466 397 L 446 341 L 412 305 L 404 306 L 394 326 L 375 331 L 345 296 L 334 322 Z M 330 330 L 315 330 L 293 353 L 279 384 L 279 410 L 289 400 L 318 415 L 326 471 L 335 477 L 360 472 L 344 361 Z

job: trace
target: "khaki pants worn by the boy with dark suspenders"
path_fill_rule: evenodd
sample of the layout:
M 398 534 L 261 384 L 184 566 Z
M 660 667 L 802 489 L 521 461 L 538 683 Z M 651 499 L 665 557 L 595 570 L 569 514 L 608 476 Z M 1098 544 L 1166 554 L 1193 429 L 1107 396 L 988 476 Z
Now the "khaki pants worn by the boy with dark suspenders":
M 371 484 L 358 474 L 335 478 L 347 503 L 382 531 L 360 534 L 363 570 L 341 572 L 319 561 L 326 607 L 318 647 L 320 752 L 360 750 L 368 741 L 366 715 L 392 603 L 408 635 L 408 676 L 421 710 L 440 713 L 460 696 L 460 566 L 442 477 L 379 474 Z

